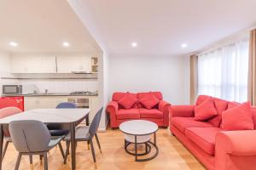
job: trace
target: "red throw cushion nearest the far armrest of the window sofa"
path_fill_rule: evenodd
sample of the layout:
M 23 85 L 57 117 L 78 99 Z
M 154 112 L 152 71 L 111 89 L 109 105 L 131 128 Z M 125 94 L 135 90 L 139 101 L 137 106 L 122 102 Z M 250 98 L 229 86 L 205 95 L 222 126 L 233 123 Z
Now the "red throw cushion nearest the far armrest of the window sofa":
M 201 105 L 195 106 L 196 121 L 206 121 L 216 115 L 218 115 L 218 111 L 215 109 L 212 99 L 207 99 Z

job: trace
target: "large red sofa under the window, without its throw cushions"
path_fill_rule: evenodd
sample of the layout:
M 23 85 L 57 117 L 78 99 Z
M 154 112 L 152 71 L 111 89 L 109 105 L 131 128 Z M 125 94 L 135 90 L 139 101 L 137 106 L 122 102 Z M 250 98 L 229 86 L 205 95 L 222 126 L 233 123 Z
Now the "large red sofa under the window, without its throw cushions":
M 210 96 L 201 95 L 195 105 L 200 105 Z M 212 98 L 218 116 L 206 122 L 195 121 L 195 105 L 171 105 L 170 129 L 202 164 L 210 170 L 256 169 L 256 130 L 224 131 L 221 127 L 221 112 L 229 102 Z M 256 129 L 256 108 L 252 108 Z M 238 120 L 242 121 L 242 120 Z M 216 123 L 218 122 L 218 123 Z

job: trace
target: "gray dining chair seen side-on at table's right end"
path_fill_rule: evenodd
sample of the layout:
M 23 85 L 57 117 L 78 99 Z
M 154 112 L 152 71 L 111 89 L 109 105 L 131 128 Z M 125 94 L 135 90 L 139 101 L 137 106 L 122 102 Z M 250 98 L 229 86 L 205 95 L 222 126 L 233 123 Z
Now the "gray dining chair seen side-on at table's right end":
M 92 139 L 93 137 L 96 137 L 96 143 L 98 144 L 99 150 L 102 153 L 102 148 L 101 144 L 97 135 L 97 130 L 101 121 L 102 117 L 102 110 L 101 108 L 99 111 L 97 111 L 96 116 L 94 116 L 92 122 L 90 123 L 90 126 L 81 126 L 76 128 L 76 134 L 75 134 L 75 141 L 77 142 L 82 142 L 82 141 L 89 141 L 90 142 L 90 148 L 91 148 L 91 154 L 93 157 L 93 161 L 96 167 L 96 155 L 95 155 L 95 150 L 93 146 Z M 67 150 L 66 150 L 66 155 L 64 158 L 64 164 L 67 163 L 67 156 L 69 155 L 69 147 L 70 147 L 70 134 L 67 135 L 67 137 L 64 139 L 67 141 Z M 97 167 L 96 167 L 97 168 Z

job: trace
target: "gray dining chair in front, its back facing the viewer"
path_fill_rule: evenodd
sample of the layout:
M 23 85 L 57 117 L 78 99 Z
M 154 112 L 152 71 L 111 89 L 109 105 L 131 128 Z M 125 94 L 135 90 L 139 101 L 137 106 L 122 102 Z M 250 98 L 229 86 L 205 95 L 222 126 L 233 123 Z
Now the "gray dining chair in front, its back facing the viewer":
M 52 139 L 43 122 L 32 120 L 10 122 L 9 133 L 15 149 L 19 151 L 15 170 L 19 169 L 20 159 L 23 155 L 44 157 L 44 170 L 48 170 L 47 152 L 64 138 L 56 137 Z

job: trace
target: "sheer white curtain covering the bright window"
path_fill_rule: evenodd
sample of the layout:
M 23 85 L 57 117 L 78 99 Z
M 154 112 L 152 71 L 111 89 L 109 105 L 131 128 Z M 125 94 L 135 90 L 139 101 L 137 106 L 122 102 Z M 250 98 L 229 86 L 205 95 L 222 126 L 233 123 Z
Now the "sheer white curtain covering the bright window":
M 248 40 L 198 57 L 198 94 L 247 101 Z

